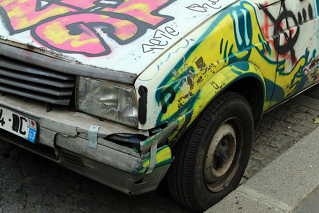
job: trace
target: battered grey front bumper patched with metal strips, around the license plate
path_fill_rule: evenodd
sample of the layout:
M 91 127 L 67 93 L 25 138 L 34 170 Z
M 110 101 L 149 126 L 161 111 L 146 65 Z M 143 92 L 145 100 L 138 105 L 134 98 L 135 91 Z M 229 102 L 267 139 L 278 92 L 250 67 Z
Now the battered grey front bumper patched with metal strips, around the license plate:
M 165 175 L 172 159 L 168 146 L 152 154 L 151 147 L 142 154 L 134 149 L 106 140 L 106 136 L 125 133 L 149 136 L 149 132 L 127 127 L 82 112 L 59 107 L 46 112 L 43 102 L 26 100 L 14 95 L 0 96 L 0 105 L 36 120 L 38 135 L 35 144 L 0 130 L 0 138 L 46 157 L 70 170 L 85 175 L 126 194 L 138 195 L 153 191 Z M 97 147 L 89 147 L 91 125 L 100 126 Z M 165 135 L 165 134 L 164 134 Z M 153 137 L 154 138 L 154 137 Z M 156 137 L 161 140 L 161 137 Z M 153 151 L 154 153 L 154 151 Z M 151 156 L 154 169 L 148 171 Z

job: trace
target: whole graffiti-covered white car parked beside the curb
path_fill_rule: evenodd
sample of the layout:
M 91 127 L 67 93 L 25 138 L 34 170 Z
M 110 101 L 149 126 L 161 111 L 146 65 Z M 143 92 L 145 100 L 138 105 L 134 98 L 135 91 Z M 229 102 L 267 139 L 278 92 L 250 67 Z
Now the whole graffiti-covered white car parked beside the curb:
M 0 138 L 203 211 L 318 81 L 317 0 L 0 0 Z

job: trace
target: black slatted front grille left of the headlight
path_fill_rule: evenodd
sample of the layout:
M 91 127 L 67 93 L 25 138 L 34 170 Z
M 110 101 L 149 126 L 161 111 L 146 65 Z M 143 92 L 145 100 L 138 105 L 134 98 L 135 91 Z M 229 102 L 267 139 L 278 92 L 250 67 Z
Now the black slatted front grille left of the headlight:
M 69 105 L 75 76 L 0 56 L 0 91 L 50 104 Z

